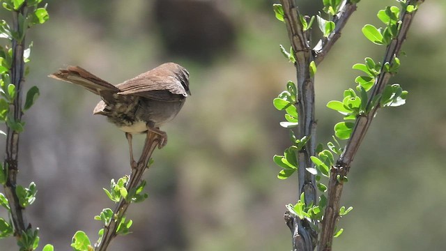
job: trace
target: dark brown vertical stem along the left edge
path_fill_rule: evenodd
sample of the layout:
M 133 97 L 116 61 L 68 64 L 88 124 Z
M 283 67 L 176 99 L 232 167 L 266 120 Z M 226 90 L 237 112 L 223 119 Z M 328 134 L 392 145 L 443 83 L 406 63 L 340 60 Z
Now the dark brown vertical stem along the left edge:
M 19 31 L 19 15 L 26 17 L 28 7 L 23 3 L 19 10 L 13 11 L 13 30 Z M 13 39 L 13 62 L 10 68 L 10 77 L 12 84 L 15 85 L 17 96 L 10 105 L 9 111 L 11 119 L 14 121 L 21 121 L 22 119 L 22 83 L 24 82 L 24 37 L 17 41 Z M 17 239 L 22 238 L 22 233 L 29 229 L 26 217 L 24 215 L 24 208 L 20 206 L 19 199 L 15 192 L 17 186 L 17 172 L 18 172 L 18 154 L 19 154 L 19 132 L 8 126 L 6 131 L 6 159 L 5 164 L 8 168 L 8 180 L 4 185 L 5 195 L 9 201 L 11 216 L 13 218 L 14 234 Z

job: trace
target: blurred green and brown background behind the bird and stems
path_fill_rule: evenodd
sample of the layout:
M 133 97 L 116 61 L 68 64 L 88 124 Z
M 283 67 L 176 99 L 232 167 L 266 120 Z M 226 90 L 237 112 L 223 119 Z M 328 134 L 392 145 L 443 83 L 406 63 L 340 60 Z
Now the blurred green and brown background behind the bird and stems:
M 133 233 L 109 250 L 290 250 L 283 214 L 297 199 L 297 176 L 276 178 L 272 155 L 289 146 L 272 99 L 295 68 L 279 52 L 289 47 L 272 0 L 47 1 L 50 19 L 31 29 L 31 73 L 26 89 L 40 98 L 24 116 L 22 185 L 35 181 L 38 197 L 26 209 L 40 227 L 40 247 L 70 250 L 77 230 L 94 243 L 102 208 L 114 208 L 102 188 L 129 173 L 124 133 L 93 116 L 97 96 L 47 78 L 78 65 L 113 84 L 160 63 L 190 71 L 192 96 L 162 130 L 169 143 L 155 151 L 146 172 L 148 199 L 130 207 Z M 325 107 L 354 87 L 351 70 L 383 47 L 360 29 L 380 26 L 378 10 L 393 0 L 361 1 L 341 39 L 318 66 L 318 142 L 341 120 Z M 321 1 L 298 1 L 314 15 Z M 4 12 L 1 13 L 2 19 Z M 446 2 L 429 0 L 403 45 L 401 70 L 391 82 L 409 91 L 406 105 L 378 113 L 353 162 L 342 204 L 353 211 L 339 222 L 334 250 L 443 250 L 446 245 Z M 316 36 L 316 33 L 315 33 Z M 144 136 L 134 137 L 141 151 Z M 1 146 L 4 151 L 4 146 Z M 0 215 L 6 217 L 4 211 Z M 17 250 L 15 240 L 1 250 Z

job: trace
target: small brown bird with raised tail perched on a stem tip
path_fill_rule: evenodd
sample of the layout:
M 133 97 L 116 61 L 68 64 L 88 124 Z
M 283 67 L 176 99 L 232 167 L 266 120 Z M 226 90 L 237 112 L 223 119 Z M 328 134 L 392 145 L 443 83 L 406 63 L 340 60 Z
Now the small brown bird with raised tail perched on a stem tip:
M 189 73 L 176 63 L 164 63 L 116 86 L 79 66 L 68 66 L 49 77 L 79 84 L 100 96 L 93 114 L 107 116 L 125 132 L 132 163 L 132 134 L 155 132 L 160 136 L 158 148 L 165 146 L 167 134 L 159 127 L 174 119 L 190 95 Z

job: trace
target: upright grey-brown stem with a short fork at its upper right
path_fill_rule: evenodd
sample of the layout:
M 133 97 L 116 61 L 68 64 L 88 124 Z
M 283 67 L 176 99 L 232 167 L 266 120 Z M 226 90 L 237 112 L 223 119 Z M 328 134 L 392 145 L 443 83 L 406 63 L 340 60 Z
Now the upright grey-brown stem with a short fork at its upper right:
M 334 18 L 336 29 L 328 36 L 319 41 L 312 50 L 309 46 L 309 32 L 303 30 L 300 22 L 300 14 L 295 7 L 294 0 L 281 0 L 284 10 L 284 20 L 288 31 L 291 47 L 295 52 L 295 68 L 298 80 L 298 138 L 309 137 L 307 146 L 298 153 L 299 162 L 299 190 L 298 197 L 305 192 L 305 204 L 316 204 L 316 181 L 314 176 L 307 172 L 305 167 L 314 167 L 310 156 L 315 154 L 316 149 L 316 121 L 314 119 L 314 77 L 310 74 L 309 64 L 314 61 L 316 64 L 323 61 L 324 56 L 331 49 L 332 45 L 341 35 L 348 17 L 356 9 L 354 3 L 347 3 L 341 8 L 337 17 Z M 293 250 L 314 250 L 317 243 L 317 234 L 312 229 L 307 220 L 300 220 L 293 214 L 286 212 L 287 225 L 293 233 Z M 290 220 L 291 219 L 291 220 Z

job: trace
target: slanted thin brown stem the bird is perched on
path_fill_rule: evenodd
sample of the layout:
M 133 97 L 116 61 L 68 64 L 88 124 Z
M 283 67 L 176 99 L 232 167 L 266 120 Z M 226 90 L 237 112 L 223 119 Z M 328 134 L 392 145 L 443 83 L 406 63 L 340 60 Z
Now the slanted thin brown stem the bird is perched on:
M 136 167 L 132 168 L 130 181 L 128 181 L 128 185 L 126 187 L 128 191 L 137 188 L 139 183 L 141 183 L 142 175 L 147 169 L 148 160 L 150 160 L 155 147 L 159 144 L 159 137 L 160 136 L 156 133 L 148 131 L 141 157 L 139 158 Z M 126 201 L 125 199 L 121 199 L 121 201 L 119 201 L 118 205 L 114 209 L 113 220 L 110 221 L 109 225 L 104 226 L 102 238 L 100 238 L 100 243 L 96 243 L 95 250 L 107 250 L 108 245 L 117 235 L 116 230 L 118 229 L 118 225 L 121 222 L 121 218 L 123 218 L 125 211 L 127 211 L 128 206 L 130 206 L 130 203 L 131 201 Z

